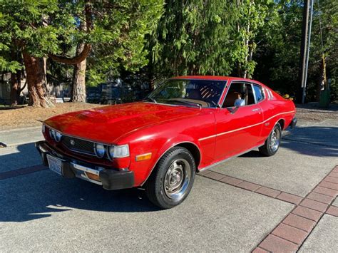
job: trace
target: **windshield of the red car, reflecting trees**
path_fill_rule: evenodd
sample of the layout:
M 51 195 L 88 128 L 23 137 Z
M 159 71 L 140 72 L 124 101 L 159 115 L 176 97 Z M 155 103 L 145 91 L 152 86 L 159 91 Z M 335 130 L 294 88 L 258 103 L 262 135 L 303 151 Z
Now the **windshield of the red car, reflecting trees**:
M 225 81 L 170 79 L 146 98 L 153 103 L 182 104 L 215 108 Z

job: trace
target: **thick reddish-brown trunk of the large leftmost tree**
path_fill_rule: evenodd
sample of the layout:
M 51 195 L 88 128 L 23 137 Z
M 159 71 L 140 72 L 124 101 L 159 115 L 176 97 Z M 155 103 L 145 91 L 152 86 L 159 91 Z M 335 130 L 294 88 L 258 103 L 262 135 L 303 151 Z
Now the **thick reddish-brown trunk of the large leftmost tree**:
M 29 55 L 23 51 L 24 64 L 26 68 L 26 78 L 29 91 L 29 105 L 36 107 L 54 107 L 48 98 L 45 60 Z

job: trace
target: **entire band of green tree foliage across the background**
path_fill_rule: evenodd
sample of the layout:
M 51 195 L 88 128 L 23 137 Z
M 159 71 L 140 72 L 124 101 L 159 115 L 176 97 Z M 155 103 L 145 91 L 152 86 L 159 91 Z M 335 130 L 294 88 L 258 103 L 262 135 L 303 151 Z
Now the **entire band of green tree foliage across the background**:
M 320 12 L 319 6 L 320 4 Z M 0 0 L 0 71 L 21 66 L 18 52 L 73 57 L 91 43 L 88 84 L 147 67 L 160 78 L 235 75 L 294 95 L 298 86 L 302 4 L 298 0 Z M 319 14 L 322 19 L 320 37 Z M 314 98 L 322 52 L 332 91 L 338 83 L 338 1 L 314 1 L 308 94 Z M 146 45 L 146 46 L 145 46 Z M 72 66 L 48 61 L 48 78 L 68 82 Z

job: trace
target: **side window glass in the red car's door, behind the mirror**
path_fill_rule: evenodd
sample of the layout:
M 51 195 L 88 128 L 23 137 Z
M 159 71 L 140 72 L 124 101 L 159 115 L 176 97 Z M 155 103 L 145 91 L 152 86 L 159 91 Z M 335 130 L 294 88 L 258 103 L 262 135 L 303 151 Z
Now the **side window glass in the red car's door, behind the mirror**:
M 222 108 L 252 105 L 255 97 L 250 83 L 231 83 Z

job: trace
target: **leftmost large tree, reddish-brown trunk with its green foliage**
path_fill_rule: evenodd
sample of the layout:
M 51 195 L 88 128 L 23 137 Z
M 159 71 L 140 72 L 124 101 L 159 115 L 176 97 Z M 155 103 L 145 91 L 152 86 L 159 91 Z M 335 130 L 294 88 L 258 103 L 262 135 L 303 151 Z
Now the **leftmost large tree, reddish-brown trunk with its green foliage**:
M 1 1 L 0 43 L 3 51 L 14 46 L 22 53 L 29 90 L 29 105 L 52 107 L 46 91 L 46 52 L 58 52 L 62 29 L 48 26 L 58 11 L 57 1 Z M 15 61 L 17 68 L 22 68 Z M 13 70 L 12 70 L 13 71 Z M 15 70 L 14 70 L 15 71 Z

